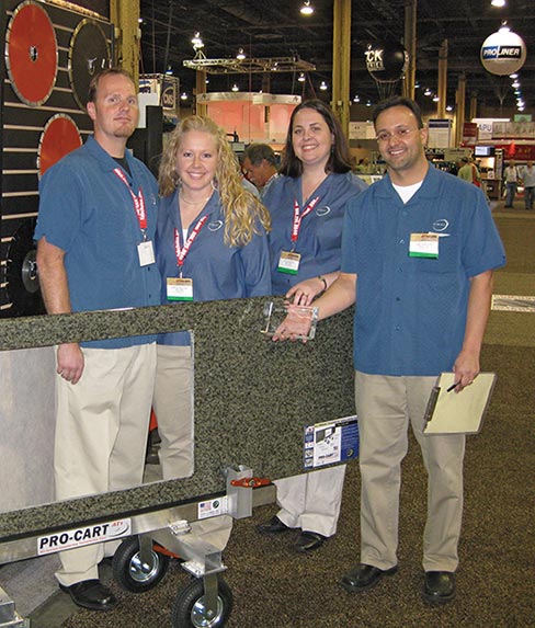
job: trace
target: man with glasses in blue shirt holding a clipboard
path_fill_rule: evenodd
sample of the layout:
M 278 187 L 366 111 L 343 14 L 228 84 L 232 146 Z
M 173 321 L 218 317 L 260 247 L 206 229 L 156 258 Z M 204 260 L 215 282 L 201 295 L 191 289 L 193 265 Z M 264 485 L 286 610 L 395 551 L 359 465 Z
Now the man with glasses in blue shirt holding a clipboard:
M 426 436 L 423 416 L 441 372 L 455 373 L 460 395 L 477 377 L 492 273 L 505 255 L 481 190 L 426 160 L 418 105 L 395 96 L 376 107 L 374 124 L 387 174 L 350 203 L 341 274 L 315 301 L 323 319 L 353 305 L 358 292 L 361 562 L 341 584 L 360 592 L 397 571 L 410 422 L 429 481 L 422 596 L 444 603 L 455 595 L 465 436 Z M 296 331 L 288 318 L 275 339 Z

